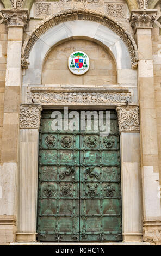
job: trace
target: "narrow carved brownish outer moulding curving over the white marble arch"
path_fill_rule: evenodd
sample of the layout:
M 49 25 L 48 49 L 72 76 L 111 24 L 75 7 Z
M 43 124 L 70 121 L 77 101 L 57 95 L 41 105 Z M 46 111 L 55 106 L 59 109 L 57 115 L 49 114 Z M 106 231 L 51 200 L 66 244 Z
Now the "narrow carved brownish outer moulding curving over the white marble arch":
M 44 20 L 42 20 L 38 26 L 34 28 L 34 31 L 29 34 L 24 41 L 22 47 L 22 68 L 27 69 L 29 65 L 29 55 L 34 46 L 35 42 L 40 38 L 42 34 L 48 31 L 49 28 L 52 28 L 59 23 L 73 20 L 88 20 L 101 23 L 102 25 L 108 27 L 117 35 L 120 36 L 125 45 L 127 46 L 129 56 L 131 57 L 132 68 L 137 67 L 138 62 L 138 50 L 137 45 L 132 37 L 132 35 L 127 31 L 126 28 L 123 28 L 121 23 L 112 19 L 108 15 L 97 13 L 96 11 L 86 10 L 86 9 L 73 9 L 67 11 L 61 11 L 60 13 L 50 15 Z

